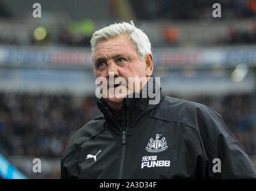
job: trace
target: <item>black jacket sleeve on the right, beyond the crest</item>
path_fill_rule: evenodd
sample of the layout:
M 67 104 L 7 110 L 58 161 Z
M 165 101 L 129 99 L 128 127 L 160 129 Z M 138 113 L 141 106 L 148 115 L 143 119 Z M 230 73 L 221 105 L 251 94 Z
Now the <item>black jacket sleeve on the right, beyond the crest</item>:
M 197 108 L 203 147 L 203 178 L 256 178 L 255 167 L 221 115 L 210 107 Z

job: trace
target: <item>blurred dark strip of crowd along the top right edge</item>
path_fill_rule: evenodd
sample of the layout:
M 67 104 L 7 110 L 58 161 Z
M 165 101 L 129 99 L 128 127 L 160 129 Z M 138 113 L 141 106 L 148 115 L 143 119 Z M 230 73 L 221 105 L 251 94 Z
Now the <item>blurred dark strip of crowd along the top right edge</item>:
M 140 20 L 212 19 L 212 5 L 216 2 L 222 7 L 222 19 L 248 18 L 256 15 L 255 0 L 131 1 Z

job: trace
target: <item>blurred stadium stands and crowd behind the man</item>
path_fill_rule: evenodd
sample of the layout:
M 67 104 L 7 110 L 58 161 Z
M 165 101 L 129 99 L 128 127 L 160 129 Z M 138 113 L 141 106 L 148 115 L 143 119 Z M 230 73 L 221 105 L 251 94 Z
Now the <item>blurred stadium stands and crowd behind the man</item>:
M 255 19 L 255 0 L 0 0 L 1 178 L 60 177 L 69 138 L 100 114 L 91 35 L 129 20 L 152 42 L 164 94 L 215 109 L 256 165 Z

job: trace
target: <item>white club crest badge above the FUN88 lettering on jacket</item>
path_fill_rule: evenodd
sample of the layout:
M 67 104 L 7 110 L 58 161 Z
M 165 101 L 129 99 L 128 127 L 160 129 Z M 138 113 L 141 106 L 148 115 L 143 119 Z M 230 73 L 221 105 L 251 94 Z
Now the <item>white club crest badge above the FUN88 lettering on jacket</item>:
M 159 138 L 162 134 L 156 134 L 155 140 L 153 138 L 149 139 L 149 143 L 147 143 L 147 146 L 145 150 L 150 153 L 158 153 L 166 150 L 168 148 L 165 137 L 162 137 L 161 140 Z

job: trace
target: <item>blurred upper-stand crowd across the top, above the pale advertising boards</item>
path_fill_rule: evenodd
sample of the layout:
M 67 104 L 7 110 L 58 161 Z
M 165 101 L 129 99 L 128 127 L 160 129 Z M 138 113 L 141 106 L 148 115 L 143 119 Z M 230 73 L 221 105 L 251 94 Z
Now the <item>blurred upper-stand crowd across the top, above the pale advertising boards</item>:
M 119 18 L 119 14 L 122 12 L 122 10 L 119 10 L 121 7 L 120 2 L 121 1 L 109 0 L 109 6 L 106 7 L 109 10 L 109 14 L 114 14 L 115 17 L 113 18 L 115 18 L 115 21 L 124 20 Z M 225 34 L 213 34 L 213 41 L 209 42 L 210 45 L 255 44 L 256 0 L 218 1 L 222 10 L 221 18 L 218 19 L 215 19 L 212 16 L 212 5 L 215 3 L 215 0 L 129 1 L 132 10 L 131 12 L 134 13 L 134 17 L 131 19 L 133 19 L 135 23 L 138 24 L 138 21 L 158 21 L 158 24 L 156 25 L 158 29 L 155 27 L 154 30 L 156 34 L 159 33 L 160 41 L 159 44 L 155 44 L 155 46 L 162 47 L 162 42 L 166 42 L 166 45 L 186 44 L 180 41 L 182 29 L 173 23 L 183 23 L 184 21 L 189 22 L 193 20 L 198 21 L 199 23 L 201 21 L 206 23 L 208 21 L 214 21 L 216 23 L 218 21 L 227 21 L 224 25 L 227 27 L 228 32 Z M 0 4 L 0 12 L 1 9 L 4 9 L 3 4 Z M 8 9 L 5 8 L 5 10 Z M 95 12 L 95 14 L 97 14 L 97 12 Z M 61 15 L 58 16 L 56 13 L 55 17 L 61 17 Z M 84 17 L 78 20 L 56 19 L 55 22 L 48 20 L 40 24 L 44 28 L 46 34 L 43 38 L 38 40 L 35 39 L 35 28 L 39 23 L 35 24 L 35 26 L 31 25 L 35 20 L 25 21 L 24 18 L 22 25 L 20 25 L 19 21 L 15 21 L 14 18 L 11 19 L 11 16 L 4 17 L 0 14 L 0 19 L 1 18 L 7 19 L 5 23 L 7 22 L 10 24 L 10 26 L 5 24 L 2 29 L 0 27 L 0 44 L 5 45 L 60 45 L 69 47 L 90 47 L 92 33 L 97 29 L 97 20 L 94 19 L 94 16 Z M 232 26 L 231 23 L 234 20 L 248 21 L 248 26 Z M 169 23 L 167 24 L 167 29 L 162 29 L 165 28 L 166 23 Z M 19 27 L 19 29 L 14 29 L 14 26 Z M 158 32 L 158 30 L 160 32 Z M 164 33 L 162 33 L 162 30 L 164 30 Z M 198 30 L 198 33 L 199 32 L 200 31 Z M 40 31 L 39 34 L 41 35 L 42 31 Z M 194 44 L 198 45 L 204 45 L 205 43 L 204 39 L 200 42 L 194 42 Z

